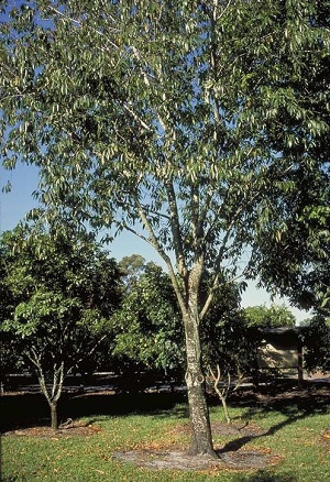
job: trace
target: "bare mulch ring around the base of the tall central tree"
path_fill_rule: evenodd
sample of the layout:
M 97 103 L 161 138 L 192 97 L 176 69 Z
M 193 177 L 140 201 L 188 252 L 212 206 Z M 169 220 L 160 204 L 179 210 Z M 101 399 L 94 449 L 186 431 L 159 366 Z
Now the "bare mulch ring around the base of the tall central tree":
M 155 470 L 249 470 L 264 469 L 279 461 L 279 458 L 262 451 L 240 450 L 235 452 L 220 453 L 219 460 L 206 456 L 190 456 L 182 450 L 131 450 L 114 452 L 112 457 L 121 462 L 134 463 Z

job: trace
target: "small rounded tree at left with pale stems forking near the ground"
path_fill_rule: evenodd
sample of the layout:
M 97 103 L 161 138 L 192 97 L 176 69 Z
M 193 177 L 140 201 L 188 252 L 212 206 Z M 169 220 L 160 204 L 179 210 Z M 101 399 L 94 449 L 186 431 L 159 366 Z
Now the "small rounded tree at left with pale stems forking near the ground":
M 4 248 L 4 249 L 3 249 Z M 11 306 L 1 331 L 20 343 L 25 365 L 36 372 L 58 428 L 64 377 L 92 354 L 120 300 L 119 270 L 84 233 L 38 232 L 19 226 L 1 238 Z

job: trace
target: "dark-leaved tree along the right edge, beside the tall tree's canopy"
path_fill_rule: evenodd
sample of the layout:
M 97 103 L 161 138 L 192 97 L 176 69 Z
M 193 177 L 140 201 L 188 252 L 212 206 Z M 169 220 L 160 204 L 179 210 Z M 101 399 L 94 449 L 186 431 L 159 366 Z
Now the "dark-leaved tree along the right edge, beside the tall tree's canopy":
M 287 106 L 284 106 L 284 98 L 271 101 L 267 119 L 275 112 L 280 116 L 270 130 L 267 143 L 275 150 L 282 145 L 280 157 L 292 158 L 295 167 L 290 173 L 284 169 L 282 178 L 277 177 L 272 185 L 274 197 L 271 202 L 266 201 L 264 216 L 267 221 L 256 231 L 260 248 L 254 253 L 252 266 L 263 286 L 276 287 L 280 295 L 288 296 L 293 304 L 304 309 L 322 311 L 327 307 L 329 316 L 330 2 L 299 1 L 297 6 L 297 13 L 309 18 L 319 50 L 317 57 L 308 50 L 307 25 L 306 36 L 296 33 L 287 44 L 288 48 L 304 52 L 307 62 L 293 65 L 285 79 L 278 79 L 278 95 L 290 95 L 292 100 Z M 292 28 L 295 22 L 298 24 L 299 20 L 296 19 Z M 282 53 L 285 55 L 285 51 Z M 287 61 L 292 62 L 289 56 Z M 302 107 L 301 117 L 297 116 L 293 103 Z M 317 131 L 320 135 L 315 142 Z M 287 142 L 283 142 L 284 136 Z M 297 164 L 297 158 L 304 158 L 304 162 Z M 273 168 L 282 168 L 280 160 Z M 278 188 L 286 190 L 285 201 L 278 196 Z

